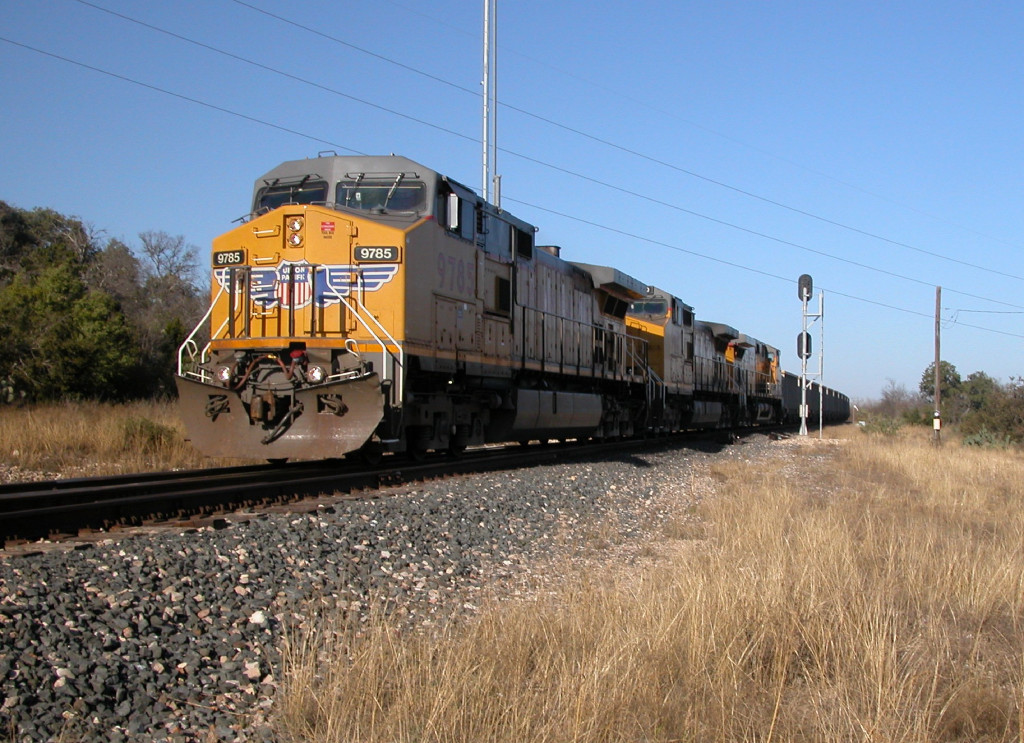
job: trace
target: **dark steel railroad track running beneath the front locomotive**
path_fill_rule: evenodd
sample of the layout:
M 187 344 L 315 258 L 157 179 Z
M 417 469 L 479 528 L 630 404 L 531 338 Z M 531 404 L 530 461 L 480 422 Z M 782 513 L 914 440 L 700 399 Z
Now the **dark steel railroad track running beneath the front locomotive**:
M 668 439 L 666 440 L 668 441 Z M 607 456 L 650 445 L 642 439 L 484 448 L 421 463 L 385 457 L 368 468 L 348 460 L 0 485 L 0 540 L 60 539 L 143 524 L 187 524 L 242 509 L 374 491 L 407 482 Z M 393 458 L 393 461 L 391 461 Z

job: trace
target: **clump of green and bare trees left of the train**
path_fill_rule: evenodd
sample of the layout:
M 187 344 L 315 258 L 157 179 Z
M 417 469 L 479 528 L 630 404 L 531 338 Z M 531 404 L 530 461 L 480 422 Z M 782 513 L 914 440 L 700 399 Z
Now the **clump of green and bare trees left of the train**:
M 132 251 L 53 210 L 0 202 L 0 401 L 174 393 L 177 347 L 206 307 L 197 249 Z

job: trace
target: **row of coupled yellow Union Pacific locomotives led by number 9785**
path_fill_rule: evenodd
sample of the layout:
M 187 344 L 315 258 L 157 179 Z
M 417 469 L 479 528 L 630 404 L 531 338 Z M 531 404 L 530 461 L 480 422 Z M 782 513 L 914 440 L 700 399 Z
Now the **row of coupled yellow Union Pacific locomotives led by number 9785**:
M 564 260 L 406 158 L 287 162 L 251 208 L 213 242 L 210 308 L 178 355 L 187 436 L 208 455 L 416 458 L 795 413 L 777 348 Z

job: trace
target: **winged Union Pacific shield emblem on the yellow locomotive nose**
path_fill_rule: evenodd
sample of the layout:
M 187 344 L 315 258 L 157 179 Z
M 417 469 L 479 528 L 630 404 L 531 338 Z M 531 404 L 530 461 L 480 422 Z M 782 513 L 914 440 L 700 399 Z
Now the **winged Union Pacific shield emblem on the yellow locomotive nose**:
M 224 289 L 228 288 L 231 270 L 217 268 L 213 272 L 217 283 Z M 272 268 L 250 269 L 249 297 L 266 309 L 302 309 L 314 299 L 317 307 L 329 307 L 353 292 L 376 292 L 397 273 L 396 264 L 313 266 L 306 262 L 283 261 Z M 236 283 L 236 294 L 244 290 Z

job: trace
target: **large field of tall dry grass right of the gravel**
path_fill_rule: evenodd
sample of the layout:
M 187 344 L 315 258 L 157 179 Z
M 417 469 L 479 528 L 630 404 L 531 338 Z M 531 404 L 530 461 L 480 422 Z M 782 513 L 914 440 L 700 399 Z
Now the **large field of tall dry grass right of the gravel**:
M 1020 740 L 1024 460 L 860 435 L 792 451 L 716 468 L 633 573 L 433 633 L 293 632 L 283 736 Z

